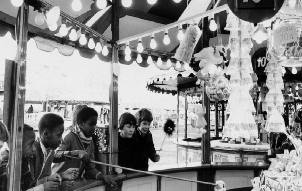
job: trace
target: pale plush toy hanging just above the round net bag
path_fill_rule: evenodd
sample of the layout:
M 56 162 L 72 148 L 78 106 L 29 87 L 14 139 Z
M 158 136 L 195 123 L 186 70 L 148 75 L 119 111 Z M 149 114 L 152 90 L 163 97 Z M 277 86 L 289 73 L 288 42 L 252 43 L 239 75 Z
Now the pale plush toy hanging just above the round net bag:
M 202 49 L 199 53 L 194 54 L 195 61 L 199 61 L 199 67 L 202 68 L 201 74 L 214 74 L 217 69 L 216 64 L 226 61 L 226 50 L 224 46 L 212 46 Z

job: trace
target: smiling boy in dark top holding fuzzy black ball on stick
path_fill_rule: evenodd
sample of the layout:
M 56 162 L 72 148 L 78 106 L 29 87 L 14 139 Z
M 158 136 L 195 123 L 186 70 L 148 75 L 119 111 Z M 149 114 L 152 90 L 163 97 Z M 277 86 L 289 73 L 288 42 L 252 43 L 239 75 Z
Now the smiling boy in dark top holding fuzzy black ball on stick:
M 156 154 L 152 134 L 149 131 L 150 124 L 153 120 L 152 113 L 148 109 L 140 109 L 135 114 L 137 120 L 137 128 L 134 132 L 134 138 L 137 140 L 138 155 L 137 169 L 148 171 L 149 158 L 153 162 L 158 162 L 160 156 Z

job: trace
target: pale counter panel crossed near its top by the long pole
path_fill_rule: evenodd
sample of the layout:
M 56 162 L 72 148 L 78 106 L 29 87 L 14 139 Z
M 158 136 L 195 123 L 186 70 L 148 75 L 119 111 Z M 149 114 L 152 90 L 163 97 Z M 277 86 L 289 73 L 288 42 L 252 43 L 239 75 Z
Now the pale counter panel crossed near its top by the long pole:
M 182 172 L 166 174 L 174 177 L 188 178 L 197 180 L 197 172 Z M 162 177 L 162 189 L 161 191 L 175 191 L 175 190 L 197 190 L 197 183 L 187 182 L 182 180 L 175 180 L 171 178 Z M 144 190 L 145 191 L 145 190 Z

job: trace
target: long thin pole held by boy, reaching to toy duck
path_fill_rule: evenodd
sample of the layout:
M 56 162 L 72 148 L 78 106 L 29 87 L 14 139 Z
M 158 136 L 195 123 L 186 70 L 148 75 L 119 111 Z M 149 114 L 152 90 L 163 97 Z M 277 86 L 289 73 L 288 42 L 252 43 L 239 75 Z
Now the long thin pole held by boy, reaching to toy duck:
M 65 154 L 63 154 L 63 156 L 67 157 L 67 158 L 80 160 L 77 157 L 72 157 L 72 156 L 65 155 Z M 203 181 L 191 180 L 191 179 L 187 179 L 187 178 L 173 177 L 173 176 L 169 176 L 169 175 L 165 175 L 165 174 L 158 174 L 158 173 L 153 173 L 153 172 L 148 172 L 148 171 L 143 171 L 143 170 L 136 170 L 136 169 L 133 169 L 133 168 L 121 167 L 121 166 L 118 166 L 118 165 L 106 164 L 106 163 L 102 163 L 102 162 L 98 162 L 98 161 L 90 161 L 90 162 L 95 163 L 95 164 L 101 164 L 101 165 L 106 165 L 106 166 L 110 166 L 110 167 L 115 167 L 115 168 L 121 168 L 121 169 L 125 169 L 125 170 L 131 170 L 131 171 L 134 171 L 134 172 L 140 172 L 140 173 L 149 174 L 149 175 L 155 175 L 155 176 L 160 176 L 160 177 L 165 177 L 165 178 L 172 178 L 172 179 L 184 180 L 184 181 L 188 181 L 188 182 L 195 182 L 195 183 L 200 183 L 200 184 L 208 184 L 208 185 L 217 186 L 217 184 L 211 183 L 211 182 L 203 182 Z

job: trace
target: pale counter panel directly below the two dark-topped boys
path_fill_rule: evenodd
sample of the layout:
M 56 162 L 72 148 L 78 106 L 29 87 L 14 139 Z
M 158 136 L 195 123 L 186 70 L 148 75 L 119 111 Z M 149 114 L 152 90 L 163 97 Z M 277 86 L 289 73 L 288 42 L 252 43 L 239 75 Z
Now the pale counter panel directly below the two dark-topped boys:
M 122 191 L 157 191 L 157 177 L 148 176 L 123 181 Z

